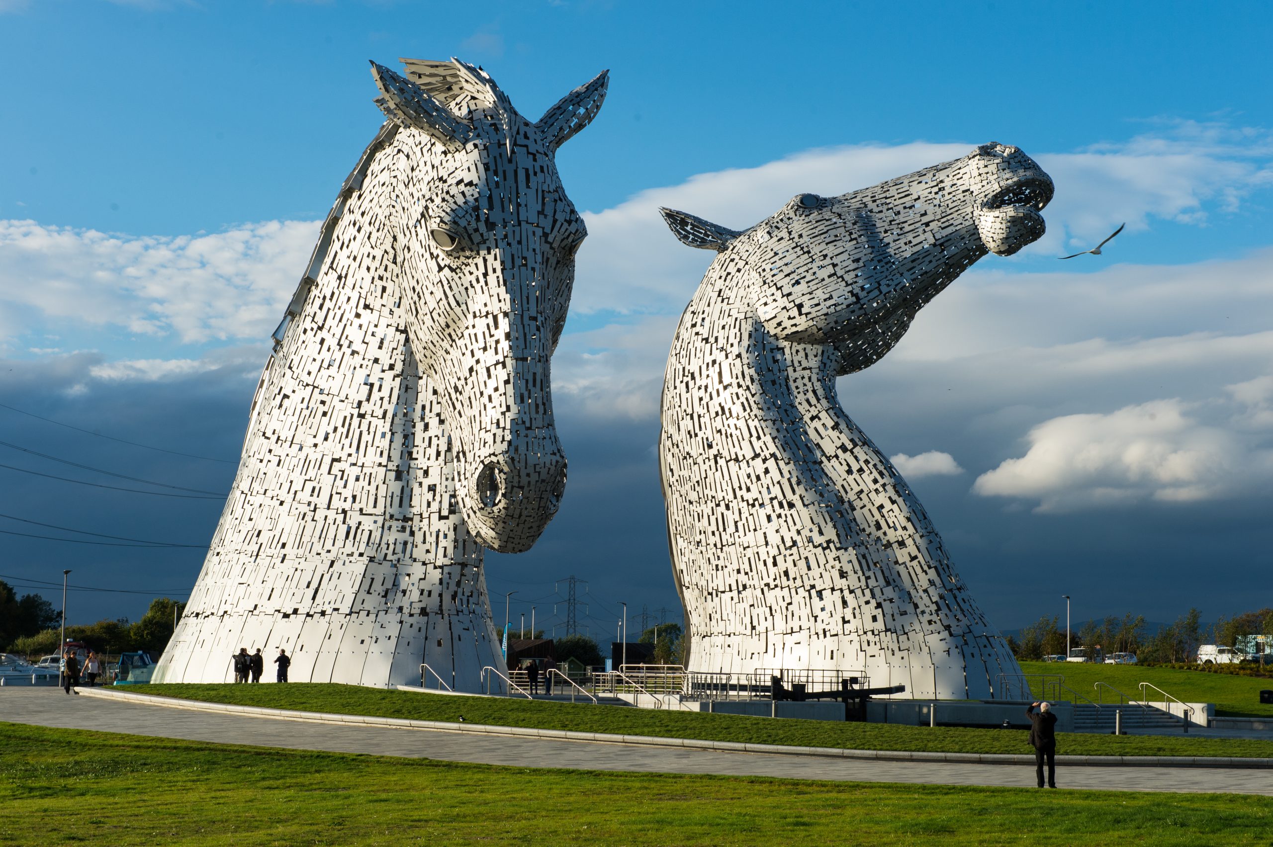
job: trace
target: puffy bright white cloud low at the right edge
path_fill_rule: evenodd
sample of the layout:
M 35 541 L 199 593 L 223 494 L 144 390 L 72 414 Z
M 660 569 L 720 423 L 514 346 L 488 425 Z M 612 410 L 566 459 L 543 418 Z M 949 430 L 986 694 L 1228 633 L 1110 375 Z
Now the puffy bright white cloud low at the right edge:
M 983 473 L 983 496 L 1037 500 L 1039 513 L 1157 500 L 1232 497 L 1267 485 L 1273 450 L 1199 420 L 1202 404 L 1160 399 L 1106 415 L 1067 415 L 1026 436 L 1029 451 Z

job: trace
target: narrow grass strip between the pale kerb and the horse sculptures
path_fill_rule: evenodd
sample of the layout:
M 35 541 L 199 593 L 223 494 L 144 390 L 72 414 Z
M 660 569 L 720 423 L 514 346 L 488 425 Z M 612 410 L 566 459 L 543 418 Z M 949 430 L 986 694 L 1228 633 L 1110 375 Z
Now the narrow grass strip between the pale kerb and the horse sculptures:
M 332 683 L 286 685 L 162 684 L 137 693 L 183 697 L 215 703 L 297 708 L 341 715 L 409 717 L 495 726 L 658 735 L 712 741 L 792 744 L 866 750 L 938 750 L 947 753 L 1030 753 L 1025 730 L 960 729 L 953 726 L 900 726 L 897 724 L 844 724 L 831 721 L 773 720 L 742 715 L 672 712 L 626 706 L 593 706 L 546 701 L 421 694 Z M 1067 734 L 1060 753 L 1073 755 L 1239 755 L 1273 758 L 1273 741 L 1199 739 L 1165 735 Z

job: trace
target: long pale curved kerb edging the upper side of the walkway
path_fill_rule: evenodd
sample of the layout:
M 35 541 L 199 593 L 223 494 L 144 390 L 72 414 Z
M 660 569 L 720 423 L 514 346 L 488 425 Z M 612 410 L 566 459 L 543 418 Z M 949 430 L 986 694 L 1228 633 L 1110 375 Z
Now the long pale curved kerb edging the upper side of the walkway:
M 611 733 L 575 733 L 572 730 L 528 729 L 522 726 L 493 726 L 489 724 L 449 724 L 446 721 L 412 721 L 402 717 L 369 717 L 365 715 L 335 715 L 331 712 L 302 712 L 289 708 L 261 706 L 233 706 L 207 703 L 197 699 L 177 699 L 155 694 L 111 691 L 106 688 L 80 688 L 80 694 L 125 699 L 149 706 L 186 708 L 202 712 L 250 715 L 288 721 L 340 724 L 359 726 L 386 726 L 393 729 L 434 730 L 443 733 L 476 733 L 480 735 L 513 735 L 519 738 L 550 738 L 568 741 L 597 741 L 602 744 L 644 744 L 647 747 L 676 747 L 695 750 L 729 753 L 769 753 L 778 755 L 817 755 L 836 759 L 881 759 L 886 762 L 957 762 L 960 764 L 1034 764 L 1034 755 L 1012 753 L 928 753 L 908 750 L 845 750 L 834 747 L 788 747 L 785 744 L 742 744 L 738 741 L 705 741 L 687 738 L 658 738 L 653 735 L 615 735 Z M 1086 767 L 1153 767 L 1153 768 L 1273 768 L 1273 759 L 1245 759 L 1206 755 L 1058 755 L 1058 764 Z

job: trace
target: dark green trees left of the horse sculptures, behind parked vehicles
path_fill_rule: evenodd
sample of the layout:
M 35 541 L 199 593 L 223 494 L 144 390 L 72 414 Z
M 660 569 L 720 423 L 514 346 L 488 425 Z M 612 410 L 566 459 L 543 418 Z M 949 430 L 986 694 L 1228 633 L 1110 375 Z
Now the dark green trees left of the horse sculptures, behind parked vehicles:
M 102 619 L 66 627 L 66 637 L 83 641 L 89 650 L 103 654 L 146 650 L 162 652 L 173 632 L 173 612 L 179 616 L 185 603 L 155 598 L 140 621 Z M 0 651 L 28 658 L 56 654 L 61 644 L 61 616 L 38 594 L 18 598 L 13 586 L 0 580 Z

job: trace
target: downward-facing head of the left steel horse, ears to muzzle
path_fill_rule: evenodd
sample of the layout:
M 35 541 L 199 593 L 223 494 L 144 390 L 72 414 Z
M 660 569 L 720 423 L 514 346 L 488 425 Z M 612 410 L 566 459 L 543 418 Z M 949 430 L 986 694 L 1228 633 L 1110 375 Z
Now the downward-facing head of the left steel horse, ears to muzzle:
M 607 78 L 532 123 L 479 67 L 406 66 L 404 78 L 372 62 L 377 104 L 398 127 L 398 295 L 440 393 L 467 527 L 491 549 L 521 552 L 565 488 L 549 359 L 587 234 L 554 156 L 596 116 Z

